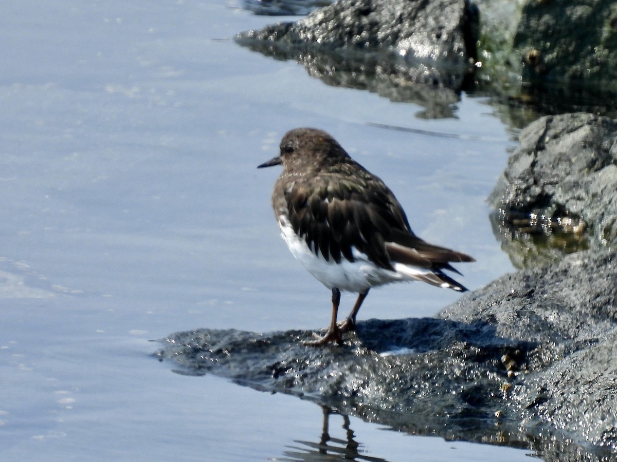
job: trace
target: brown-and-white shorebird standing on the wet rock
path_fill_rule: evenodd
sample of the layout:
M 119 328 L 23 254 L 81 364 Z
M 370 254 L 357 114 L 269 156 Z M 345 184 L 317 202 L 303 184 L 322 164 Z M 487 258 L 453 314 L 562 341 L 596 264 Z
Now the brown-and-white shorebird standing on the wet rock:
M 473 257 L 430 244 L 413 233 L 394 193 L 354 161 L 327 132 L 296 128 L 281 139 L 280 153 L 257 168 L 282 165 L 271 203 L 281 236 L 296 259 L 331 290 L 332 317 L 325 335 L 304 342 L 341 344 L 355 330 L 368 291 L 392 282 L 422 281 L 458 292 L 467 289 L 444 270 Z M 341 291 L 357 293 L 340 324 Z

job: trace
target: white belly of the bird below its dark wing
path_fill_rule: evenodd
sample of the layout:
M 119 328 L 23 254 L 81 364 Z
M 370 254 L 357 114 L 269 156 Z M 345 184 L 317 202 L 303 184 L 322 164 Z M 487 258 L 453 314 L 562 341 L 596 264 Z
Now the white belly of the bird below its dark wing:
M 299 238 L 288 219 L 278 217 L 281 235 L 294 256 L 309 270 L 319 282 L 328 288 L 360 293 L 368 288 L 397 281 L 411 281 L 413 274 L 428 272 L 400 263 L 394 264 L 394 271 L 383 269 L 371 262 L 366 254 L 352 247 L 355 261 L 350 262 L 341 256 L 341 262 L 326 261 L 321 252 L 318 255 L 309 248 L 304 238 Z

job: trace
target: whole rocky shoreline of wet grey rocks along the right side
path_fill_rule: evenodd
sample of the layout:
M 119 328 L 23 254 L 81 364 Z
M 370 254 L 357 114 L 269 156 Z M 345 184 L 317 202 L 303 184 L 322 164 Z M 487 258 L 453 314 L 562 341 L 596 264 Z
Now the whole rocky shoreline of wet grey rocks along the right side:
M 326 83 L 420 103 L 432 117 L 452 115 L 468 89 L 507 105 L 542 100 L 549 115 L 521 131 L 490 199 L 520 271 L 435 318 L 361 322 L 341 347 L 302 346 L 308 331 L 199 330 L 168 336 L 159 357 L 414 434 L 531 448 L 546 461 L 617 456 L 617 121 L 597 114 L 617 107 L 603 101 L 617 88 L 611 5 L 341 0 L 239 34 Z M 568 106 L 568 92 L 586 102 Z

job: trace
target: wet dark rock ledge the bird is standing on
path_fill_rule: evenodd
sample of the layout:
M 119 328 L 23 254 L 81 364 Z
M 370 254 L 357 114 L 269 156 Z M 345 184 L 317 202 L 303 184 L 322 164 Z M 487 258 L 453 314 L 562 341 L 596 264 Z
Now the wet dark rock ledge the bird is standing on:
M 344 345 L 307 331 L 198 330 L 159 356 L 414 434 L 602 460 L 617 450 L 617 254 L 506 275 L 437 318 L 368 320 Z

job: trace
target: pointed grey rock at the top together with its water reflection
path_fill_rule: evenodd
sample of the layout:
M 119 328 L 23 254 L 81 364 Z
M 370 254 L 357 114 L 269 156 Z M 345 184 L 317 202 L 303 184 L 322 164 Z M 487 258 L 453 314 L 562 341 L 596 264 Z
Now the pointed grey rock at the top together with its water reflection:
M 295 23 L 238 34 L 236 41 L 297 60 L 328 84 L 442 103 L 444 109 L 429 111 L 432 117 L 452 115 L 449 106 L 473 70 L 477 30 L 477 10 L 466 0 L 341 0 Z

